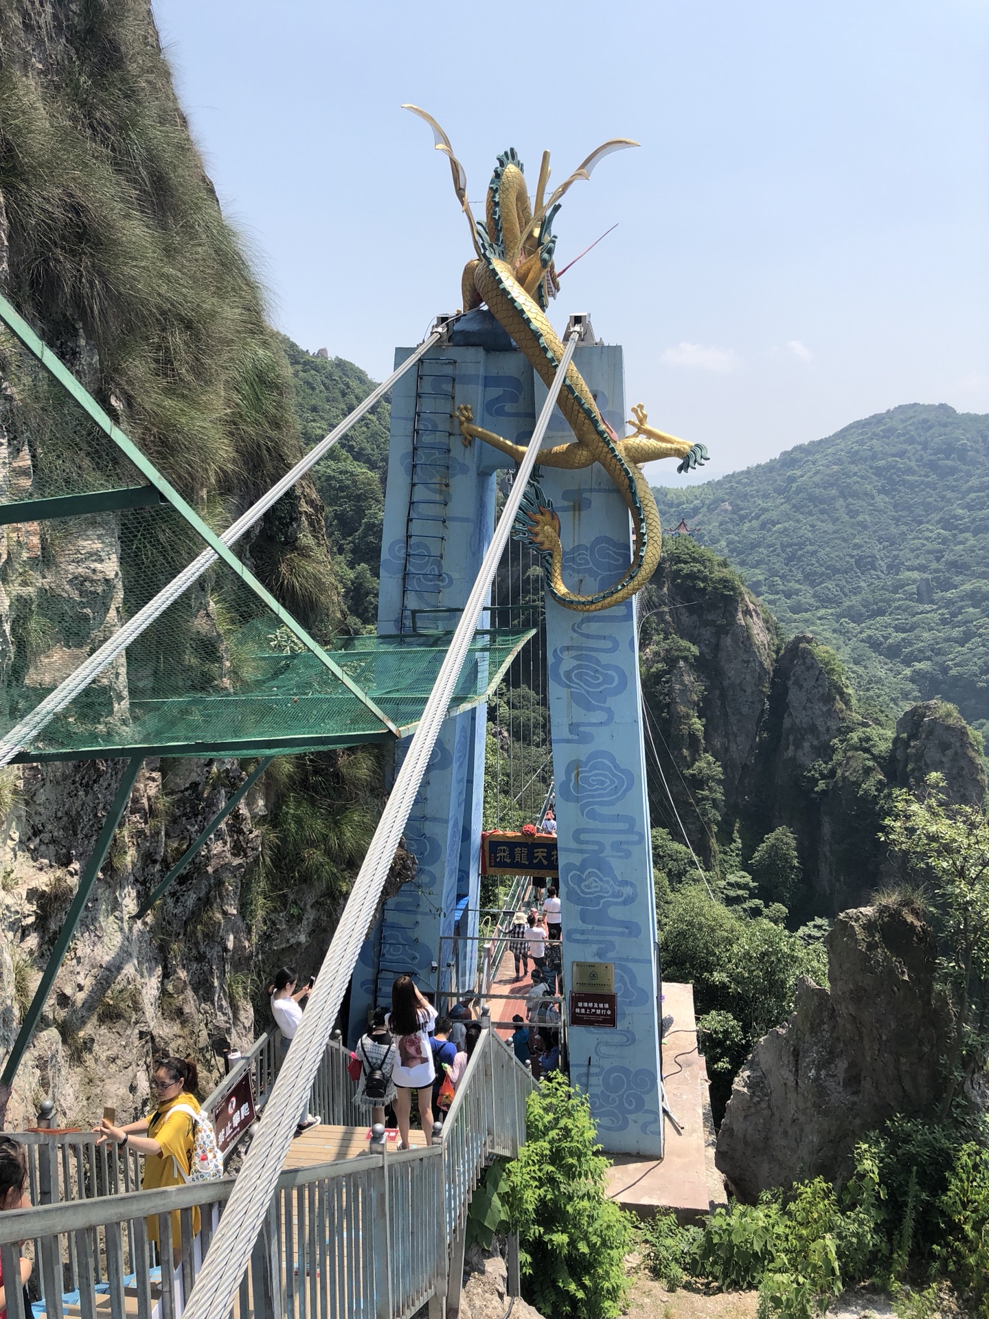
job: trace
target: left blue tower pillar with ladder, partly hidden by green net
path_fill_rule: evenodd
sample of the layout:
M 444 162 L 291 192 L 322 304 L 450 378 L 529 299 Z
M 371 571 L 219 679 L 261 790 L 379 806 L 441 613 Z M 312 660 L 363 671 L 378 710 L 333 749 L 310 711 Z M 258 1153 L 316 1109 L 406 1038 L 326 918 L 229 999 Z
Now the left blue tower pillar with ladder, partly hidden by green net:
M 396 365 L 410 350 L 396 352 Z M 509 459 L 464 445 L 456 404 L 483 425 L 525 443 L 534 426 L 531 372 L 488 313 L 459 318 L 450 343 L 433 348 L 392 396 L 392 443 L 381 549 L 381 636 L 452 630 L 494 526 L 494 481 Z M 385 906 L 361 951 L 351 988 L 349 1034 L 369 1008 L 390 1001 L 396 975 L 421 988 L 469 983 L 476 956 L 485 708 L 448 719 L 415 799 L 406 843 L 418 863 L 411 884 Z M 398 747 L 398 756 L 407 743 Z M 465 900 L 465 901 L 464 901 Z M 460 966 L 447 963 L 458 909 Z M 439 963 L 443 967 L 439 968 Z

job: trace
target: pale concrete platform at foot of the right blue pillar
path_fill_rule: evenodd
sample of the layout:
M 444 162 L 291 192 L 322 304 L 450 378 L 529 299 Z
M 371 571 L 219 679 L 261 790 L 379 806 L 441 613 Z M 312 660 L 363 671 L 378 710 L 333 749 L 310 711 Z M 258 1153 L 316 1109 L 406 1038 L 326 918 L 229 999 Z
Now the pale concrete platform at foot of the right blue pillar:
M 665 981 L 663 1016 L 673 1017 L 662 1059 L 666 1104 L 675 1119 L 665 1116 L 665 1155 L 658 1161 L 613 1155 L 608 1195 L 642 1217 L 673 1210 L 680 1223 L 692 1223 L 725 1203 L 715 1169 L 707 1070 L 698 1055 L 694 987 Z

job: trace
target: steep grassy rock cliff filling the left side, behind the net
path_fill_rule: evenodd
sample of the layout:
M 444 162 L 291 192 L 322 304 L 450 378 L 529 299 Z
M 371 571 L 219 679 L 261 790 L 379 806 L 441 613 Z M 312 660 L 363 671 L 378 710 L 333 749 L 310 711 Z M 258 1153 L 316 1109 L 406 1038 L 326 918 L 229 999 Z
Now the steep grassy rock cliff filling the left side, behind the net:
M 207 521 L 227 525 L 301 454 L 284 348 L 189 136 L 146 0 L 17 0 L 0 12 L 0 288 Z M 133 477 L 0 334 L 0 499 Z M 0 538 L 4 727 L 133 612 L 141 574 L 145 588 L 166 582 L 199 549 L 158 534 L 152 514 L 148 536 L 124 534 L 123 517 L 25 521 Z M 311 484 L 270 510 L 245 555 L 310 630 L 330 634 L 340 591 Z M 196 587 L 183 601 L 173 623 L 186 658 L 211 648 L 225 673 L 237 657 L 223 600 Z M 95 685 L 107 718 L 127 714 L 146 661 L 129 652 Z M 0 773 L 0 1057 L 121 764 Z M 208 1082 L 219 1042 L 252 1037 L 252 995 L 278 962 L 306 958 L 315 969 L 380 810 L 373 751 L 265 776 L 152 915 L 135 921 L 244 776 L 237 761 L 145 762 L 21 1066 L 9 1124 L 44 1095 L 61 1120 L 86 1122 L 104 1103 L 129 1116 L 146 1101 L 161 1051 L 194 1051 Z

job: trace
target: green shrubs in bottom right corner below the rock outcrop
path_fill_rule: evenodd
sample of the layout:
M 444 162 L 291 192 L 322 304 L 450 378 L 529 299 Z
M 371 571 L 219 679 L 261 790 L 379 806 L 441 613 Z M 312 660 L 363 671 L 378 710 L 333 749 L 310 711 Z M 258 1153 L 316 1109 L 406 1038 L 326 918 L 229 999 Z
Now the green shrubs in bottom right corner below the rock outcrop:
M 864 1282 L 911 1319 L 935 1312 L 947 1282 L 964 1314 L 989 1319 L 989 1150 L 936 1124 L 895 1119 L 873 1132 L 840 1190 L 815 1178 L 733 1202 L 703 1228 L 658 1215 L 641 1235 L 667 1289 L 757 1287 L 760 1319 L 811 1319 Z

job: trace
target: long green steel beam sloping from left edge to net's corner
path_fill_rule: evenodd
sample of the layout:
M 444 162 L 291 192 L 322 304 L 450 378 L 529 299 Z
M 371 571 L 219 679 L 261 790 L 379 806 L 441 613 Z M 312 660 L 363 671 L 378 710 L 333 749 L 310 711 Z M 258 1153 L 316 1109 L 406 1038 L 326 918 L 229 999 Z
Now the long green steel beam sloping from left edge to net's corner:
M 7 328 L 11 330 L 21 340 L 24 347 L 38 359 L 38 361 L 49 372 L 49 375 L 51 375 L 59 383 L 59 385 L 62 385 L 66 393 L 69 393 L 76 401 L 76 404 L 82 408 L 82 410 L 87 414 L 87 417 L 90 417 L 90 419 L 99 426 L 103 434 L 107 435 L 107 438 L 111 439 L 117 446 L 117 448 L 127 458 L 131 459 L 131 462 L 135 464 L 138 472 L 146 476 L 146 479 L 152 483 L 152 485 L 156 487 L 156 489 L 161 491 L 161 493 L 165 496 L 169 504 L 171 504 L 173 508 L 175 508 L 182 514 L 182 517 L 185 517 L 185 520 L 199 533 L 199 536 L 206 541 L 206 543 L 210 546 L 214 554 L 218 554 L 227 565 L 227 567 L 232 568 L 237 574 L 237 576 L 241 578 L 241 580 L 251 587 L 255 595 L 257 595 L 261 600 L 264 600 L 268 608 L 285 624 L 285 627 L 291 633 L 294 633 L 294 636 L 298 637 L 298 640 L 306 646 L 306 649 L 311 650 L 311 653 L 316 656 L 316 658 L 323 665 L 326 665 L 330 673 L 332 673 L 336 678 L 339 678 L 348 687 L 348 690 L 352 691 L 353 695 L 361 702 L 361 704 L 367 706 L 367 708 L 372 712 L 372 715 L 376 719 L 380 719 L 381 723 L 385 725 L 385 728 L 388 728 L 389 732 L 392 732 L 397 737 L 398 729 L 388 718 L 388 715 L 375 704 L 371 696 L 368 696 L 368 694 L 363 691 L 357 686 L 357 683 L 351 677 L 348 677 L 348 674 L 345 674 L 343 669 L 339 667 L 339 665 L 334 663 L 334 661 L 330 658 L 326 650 L 323 650 L 319 642 L 315 641 L 309 634 L 309 632 L 306 632 L 306 629 L 302 627 L 298 619 L 295 619 L 291 613 L 289 613 L 287 609 L 284 609 L 278 604 L 274 596 L 261 586 L 261 583 L 257 580 L 253 572 L 249 572 L 248 568 L 244 567 L 244 565 L 240 562 L 236 554 L 229 549 L 229 546 L 225 545 L 220 539 L 220 537 L 216 536 L 216 533 L 210 526 L 206 525 L 206 522 L 199 517 L 195 509 L 182 499 L 175 487 L 161 475 L 154 463 L 152 463 L 150 459 L 148 459 L 141 452 L 141 450 L 137 447 L 137 445 L 135 445 L 131 437 L 127 435 L 125 431 L 123 431 L 116 425 L 116 422 L 109 417 L 107 412 L 104 412 L 103 408 L 100 408 L 100 405 L 96 402 L 92 394 L 83 385 L 79 384 L 79 381 L 75 379 L 71 371 L 65 365 L 65 363 L 59 357 L 57 357 L 54 352 L 51 352 L 45 340 L 41 339 L 32 330 L 32 327 L 28 324 L 24 317 L 13 307 L 11 302 L 7 301 L 7 298 L 3 294 L 0 294 L 0 321 L 3 321 Z

